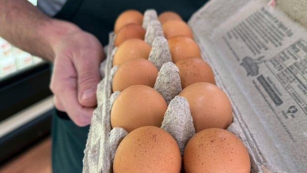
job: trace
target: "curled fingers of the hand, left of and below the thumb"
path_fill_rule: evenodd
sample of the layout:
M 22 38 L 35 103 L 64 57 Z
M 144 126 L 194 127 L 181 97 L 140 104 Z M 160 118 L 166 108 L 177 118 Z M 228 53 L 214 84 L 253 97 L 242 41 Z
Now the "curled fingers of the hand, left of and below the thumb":
M 94 108 L 83 107 L 78 102 L 77 72 L 70 59 L 57 58 L 51 78 L 51 91 L 54 104 L 60 111 L 65 111 L 78 126 L 90 124 Z

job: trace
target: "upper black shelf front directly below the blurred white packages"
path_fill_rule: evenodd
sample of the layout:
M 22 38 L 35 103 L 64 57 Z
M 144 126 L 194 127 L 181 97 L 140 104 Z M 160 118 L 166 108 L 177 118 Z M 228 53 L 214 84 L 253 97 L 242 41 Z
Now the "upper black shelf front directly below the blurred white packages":
M 42 62 L 0 80 L 0 121 L 51 95 L 51 65 Z

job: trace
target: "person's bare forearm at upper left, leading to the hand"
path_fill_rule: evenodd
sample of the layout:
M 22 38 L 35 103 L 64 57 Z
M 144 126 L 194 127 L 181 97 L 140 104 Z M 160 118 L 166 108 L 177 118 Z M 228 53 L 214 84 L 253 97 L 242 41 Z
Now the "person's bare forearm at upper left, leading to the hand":
M 53 61 L 56 45 L 76 25 L 52 19 L 27 0 L 0 0 L 0 36 L 18 48 Z

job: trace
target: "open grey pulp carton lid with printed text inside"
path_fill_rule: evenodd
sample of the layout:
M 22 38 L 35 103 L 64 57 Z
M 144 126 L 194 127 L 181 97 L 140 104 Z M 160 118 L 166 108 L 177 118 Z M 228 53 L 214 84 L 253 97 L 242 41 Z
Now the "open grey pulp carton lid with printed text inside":
M 278 3 L 275 7 L 275 0 L 211 0 L 189 25 L 218 86 L 230 97 L 253 157 L 252 172 L 303 173 L 307 30 Z M 287 6 L 287 0 L 280 3 Z

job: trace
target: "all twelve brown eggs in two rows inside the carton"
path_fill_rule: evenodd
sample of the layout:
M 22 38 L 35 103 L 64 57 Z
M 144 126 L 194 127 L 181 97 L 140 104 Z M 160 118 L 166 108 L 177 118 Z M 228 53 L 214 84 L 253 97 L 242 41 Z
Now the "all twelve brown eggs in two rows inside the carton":
M 158 16 L 172 61 L 179 69 L 182 91 L 197 132 L 183 153 L 186 173 L 249 173 L 244 144 L 225 130 L 232 122 L 227 95 L 215 85 L 211 67 L 201 58 L 191 28 L 171 11 Z M 111 126 L 129 134 L 114 157 L 114 173 L 179 173 L 181 153 L 174 138 L 159 128 L 167 103 L 153 89 L 158 68 L 148 59 L 151 46 L 144 42 L 143 15 L 127 10 L 115 22 L 113 66 L 119 66 L 112 90 L 121 91 L 111 109 Z

